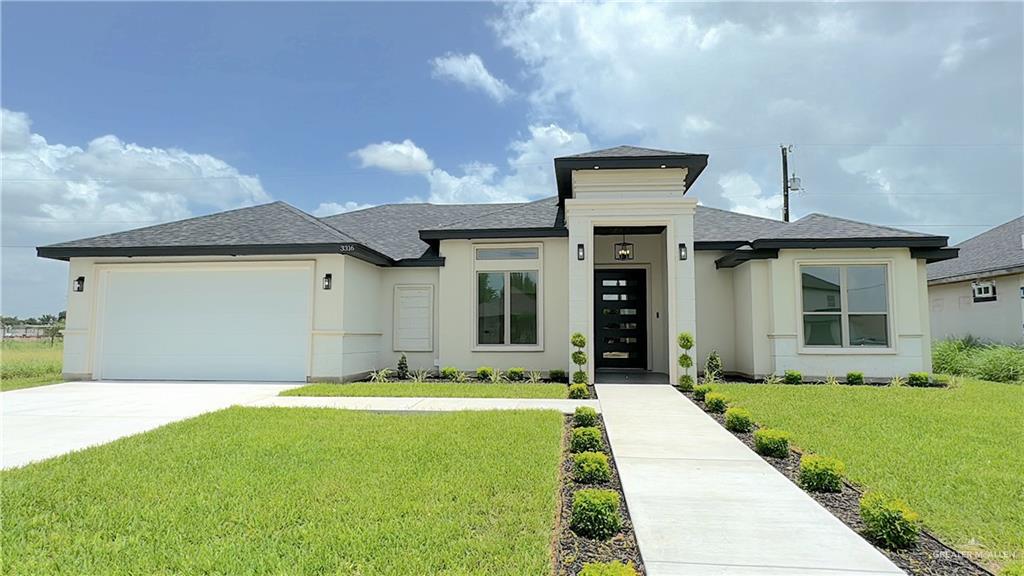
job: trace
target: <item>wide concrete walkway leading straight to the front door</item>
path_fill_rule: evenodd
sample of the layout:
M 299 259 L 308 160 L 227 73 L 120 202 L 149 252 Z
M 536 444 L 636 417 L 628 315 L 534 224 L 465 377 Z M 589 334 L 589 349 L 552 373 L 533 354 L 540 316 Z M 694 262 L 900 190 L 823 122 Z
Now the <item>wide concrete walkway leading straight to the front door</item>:
M 903 574 L 671 386 L 597 394 L 649 576 Z

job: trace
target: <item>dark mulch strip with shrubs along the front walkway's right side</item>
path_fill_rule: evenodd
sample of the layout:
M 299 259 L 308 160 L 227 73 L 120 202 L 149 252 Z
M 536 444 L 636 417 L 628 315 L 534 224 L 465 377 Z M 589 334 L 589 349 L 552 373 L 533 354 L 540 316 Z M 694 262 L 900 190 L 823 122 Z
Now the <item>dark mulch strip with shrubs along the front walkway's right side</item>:
M 694 404 L 705 409 L 705 413 L 715 419 L 722 427 L 725 427 L 725 414 L 708 412 L 703 402 L 693 398 L 691 393 L 681 393 Z M 754 433 L 734 433 L 743 444 L 754 450 Z M 800 486 L 798 477 L 800 475 L 800 456 L 797 450 L 790 450 L 790 455 L 785 458 L 772 458 L 761 456 L 766 462 L 775 467 L 783 476 L 788 478 L 794 484 Z M 860 496 L 863 491 L 853 484 L 844 481 L 843 491 L 835 494 L 824 492 L 807 492 L 812 498 L 818 501 L 836 518 L 852 528 L 857 534 L 864 536 L 864 523 L 860 520 Z M 870 542 L 870 540 L 868 540 Z M 993 576 L 991 572 L 972 562 L 961 552 L 943 544 L 938 538 L 922 530 L 921 538 L 913 547 L 905 550 L 887 550 L 880 546 L 874 546 L 879 551 L 886 554 L 901 570 L 912 576 Z

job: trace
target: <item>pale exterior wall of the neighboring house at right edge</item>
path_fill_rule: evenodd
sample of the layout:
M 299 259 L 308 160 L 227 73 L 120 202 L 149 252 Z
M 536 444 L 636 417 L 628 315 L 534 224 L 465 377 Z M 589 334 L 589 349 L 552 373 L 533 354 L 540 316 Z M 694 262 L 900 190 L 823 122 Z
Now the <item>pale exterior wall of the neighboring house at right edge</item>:
M 1024 275 L 985 279 L 995 282 L 995 300 L 975 302 L 971 281 L 928 287 L 932 338 L 977 336 L 1002 343 L 1024 340 Z

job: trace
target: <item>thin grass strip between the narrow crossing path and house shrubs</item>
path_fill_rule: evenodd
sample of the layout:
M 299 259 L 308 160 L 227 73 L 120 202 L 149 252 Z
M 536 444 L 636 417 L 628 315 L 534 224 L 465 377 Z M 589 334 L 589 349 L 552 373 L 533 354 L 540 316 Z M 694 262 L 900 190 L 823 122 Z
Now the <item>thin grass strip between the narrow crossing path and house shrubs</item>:
M 355 382 L 351 384 L 309 384 L 281 393 L 281 396 L 376 396 L 425 398 L 565 398 L 565 384 L 489 382 Z

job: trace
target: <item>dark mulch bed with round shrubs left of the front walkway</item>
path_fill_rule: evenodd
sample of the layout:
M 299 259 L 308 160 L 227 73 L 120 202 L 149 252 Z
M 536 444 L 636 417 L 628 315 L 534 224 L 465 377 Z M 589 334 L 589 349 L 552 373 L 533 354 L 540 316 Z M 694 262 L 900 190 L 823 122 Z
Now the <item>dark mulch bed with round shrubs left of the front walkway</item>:
M 595 397 L 596 398 L 596 397 Z M 598 426 L 604 437 L 604 445 L 610 446 L 608 434 L 604 428 L 604 420 L 599 418 Z M 633 533 L 633 523 L 630 521 L 630 512 L 626 506 L 626 496 L 623 494 L 623 485 L 618 481 L 618 469 L 615 467 L 614 457 L 608 450 L 608 460 L 611 463 L 611 481 L 605 484 L 577 484 L 572 480 L 572 454 L 569 453 L 569 438 L 572 434 L 572 416 L 565 418 L 565 433 L 562 450 L 562 492 L 561 509 L 558 515 L 558 526 L 556 527 L 555 546 L 555 574 L 558 576 L 575 576 L 583 570 L 583 566 L 590 562 L 612 562 L 620 561 L 626 564 L 632 563 L 637 574 L 646 574 L 643 568 L 643 559 L 640 558 L 640 548 L 637 546 L 636 534 Z M 622 498 L 623 530 L 610 540 L 592 540 L 578 536 L 569 529 L 569 520 L 572 511 L 572 494 L 583 488 L 604 488 L 618 492 Z

